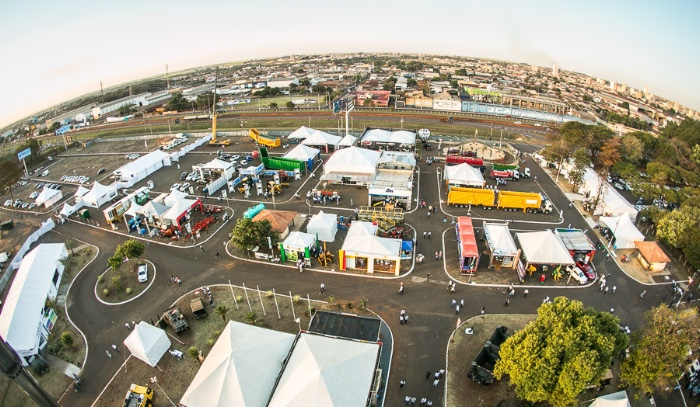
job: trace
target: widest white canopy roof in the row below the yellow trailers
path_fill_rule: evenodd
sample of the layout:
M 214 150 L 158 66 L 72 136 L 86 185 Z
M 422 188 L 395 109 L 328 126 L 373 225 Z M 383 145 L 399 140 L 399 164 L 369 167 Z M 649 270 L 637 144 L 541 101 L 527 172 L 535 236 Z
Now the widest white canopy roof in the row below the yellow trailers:
M 528 263 L 574 264 L 564 242 L 551 230 L 516 233 L 515 238 L 523 249 Z

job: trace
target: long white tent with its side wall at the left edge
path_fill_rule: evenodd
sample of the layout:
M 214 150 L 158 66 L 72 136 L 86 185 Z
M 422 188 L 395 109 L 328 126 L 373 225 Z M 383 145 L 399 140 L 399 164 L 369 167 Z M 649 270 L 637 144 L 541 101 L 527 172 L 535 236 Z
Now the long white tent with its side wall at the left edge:
M 63 243 L 41 244 L 20 263 L 0 313 L 0 336 L 22 357 L 22 364 L 46 346 L 57 315 L 46 307 L 55 299 L 68 257 Z

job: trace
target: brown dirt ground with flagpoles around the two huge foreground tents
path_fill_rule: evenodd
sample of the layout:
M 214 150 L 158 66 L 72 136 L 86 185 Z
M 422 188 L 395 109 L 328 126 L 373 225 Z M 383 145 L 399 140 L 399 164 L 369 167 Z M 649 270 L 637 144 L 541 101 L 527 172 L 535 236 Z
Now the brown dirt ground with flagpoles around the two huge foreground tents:
M 290 298 L 289 293 L 285 293 L 287 295 L 278 294 L 275 302 L 275 295 L 271 291 L 258 292 L 255 289 L 248 289 L 246 297 L 246 291 L 242 287 L 233 286 L 232 288 L 233 295 L 229 286 L 210 287 L 214 305 L 223 305 L 228 309 L 226 313 L 227 321 L 252 323 L 254 320 L 257 326 L 292 334 L 299 332 L 300 327 L 305 329 L 309 326 L 309 304 L 305 298 L 296 298 L 294 296 Z M 206 358 L 216 339 L 221 334 L 221 330 L 226 326 L 222 317 L 214 311 L 214 308 L 209 305 L 208 300 L 204 297 L 202 298 L 205 300 L 205 309 L 208 315 L 201 319 L 194 318 L 190 309 L 190 300 L 196 295 L 201 296 L 202 294 L 199 291 L 195 291 L 190 295 L 186 295 L 177 303 L 177 306 L 180 307 L 187 319 L 190 329 L 177 336 L 172 328 L 166 328 L 166 333 L 171 337 L 171 349 L 182 351 L 185 354 L 185 358 L 178 361 L 166 353 L 158 363 L 157 368 L 151 368 L 136 358 L 130 358 L 117 373 L 103 395 L 97 400 L 96 406 L 119 405 L 123 402 L 123 396 L 129 385 L 136 383 L 152 386 L 150 384 L 152 377 L 157 377 L 158 380 L 158 385 L 155 388 L 155 402 L 157 405 L 169 404 L 165 394 L 176 403 L 180 400 L 200 366 L 196 359 L 187 355 L 188 348 L 196 347 L 202 351 L 203 356 Z M 327 300 L 333 299 L 329 297 Z M 248 305 L 249 301 L 250 307 Z M 238 309 L 236 309 L 236 305 Z M 356 313 L 359 304 L 353 304 L 352 308 L 348 308 L 347 304 L 339 304 L 335 303 L 335 301 L 323 303 L 311 300 L 311 307 L 312 309 L 345 309 L 347 312 Z M 294 310 L 293 312 L 292 309 Z M 254 316 L 251 315 L 251 312 Z M 295 317 L 300 318 L 299 324 L 295 322 Z M 123 349 L 119 357 L 125 358 L 128 355 L 129 351 Z

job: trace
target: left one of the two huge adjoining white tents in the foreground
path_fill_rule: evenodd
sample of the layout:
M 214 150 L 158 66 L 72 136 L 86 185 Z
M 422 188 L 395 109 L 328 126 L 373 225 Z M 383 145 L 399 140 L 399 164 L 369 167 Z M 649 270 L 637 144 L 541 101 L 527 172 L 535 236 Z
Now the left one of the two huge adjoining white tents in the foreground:
M 294 339 L 285 332 L 229 321 L 180 404 L 265 406 Z

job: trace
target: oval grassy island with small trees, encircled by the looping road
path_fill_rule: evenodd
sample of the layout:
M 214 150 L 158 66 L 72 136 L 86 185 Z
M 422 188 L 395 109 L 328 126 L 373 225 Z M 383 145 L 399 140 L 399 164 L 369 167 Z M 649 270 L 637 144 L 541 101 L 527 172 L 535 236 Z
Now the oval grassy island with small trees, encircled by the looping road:
M 139 295 L 153 278 L 153 266 L 148 264 L 149 281 L 139 283 L 136 270 L 142 261 L 133 260 L 121 264 L 118 269 L 107 269 L 97 279 L 97 296 L 104 302 L 120 303 Z

